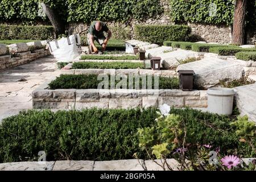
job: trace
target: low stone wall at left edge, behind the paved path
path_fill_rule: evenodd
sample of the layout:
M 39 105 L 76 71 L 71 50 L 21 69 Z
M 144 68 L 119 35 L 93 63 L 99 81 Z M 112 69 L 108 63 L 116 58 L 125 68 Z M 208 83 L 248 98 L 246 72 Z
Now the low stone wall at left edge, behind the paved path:
M 40 57 L 51 55 L 51 53 L 45 49 L 46 42 L 43 42 L 44 45 L 41 42 L 39 43 L 18 43 L 9 46 L 1 44 L 2 55 L 0 55 L 0 70 L 17 67 L 18 65 L 39 59 Z

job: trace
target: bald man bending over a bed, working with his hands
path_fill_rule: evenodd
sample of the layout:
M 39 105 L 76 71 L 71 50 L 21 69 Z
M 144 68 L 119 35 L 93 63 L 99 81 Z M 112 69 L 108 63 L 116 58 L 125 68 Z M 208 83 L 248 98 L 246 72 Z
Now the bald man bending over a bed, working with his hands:
M 108 34 L 107 38 L 104 36 L 104 32 Z M 98 49 L 94 44 L 94 40 L 102 46 L 101 52 L 103 53 L 106 49 L 109 39 L 112 36 L 112 32 L 106 26 L 106 23 L 101 21 L 94 21 L 90 24 L 90 28 L 87 34 L 87 41 L 89 44 L 90 51 L 92 53 L 98 53 Z

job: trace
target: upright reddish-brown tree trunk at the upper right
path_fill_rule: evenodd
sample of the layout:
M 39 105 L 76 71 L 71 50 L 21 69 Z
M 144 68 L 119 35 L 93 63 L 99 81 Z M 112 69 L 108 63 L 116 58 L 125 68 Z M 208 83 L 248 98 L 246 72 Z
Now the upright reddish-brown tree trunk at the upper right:
M 245 43 L 246 1 L 247 0 L 236 0 L 236 7 L 234 10 L 232 44 L 238 46 Z

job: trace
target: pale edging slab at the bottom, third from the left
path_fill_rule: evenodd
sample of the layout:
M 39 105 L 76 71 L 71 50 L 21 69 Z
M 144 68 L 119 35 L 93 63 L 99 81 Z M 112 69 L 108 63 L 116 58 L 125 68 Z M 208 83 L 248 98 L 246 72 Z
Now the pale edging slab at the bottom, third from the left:
M 143 171 L 137 159 L 96 161 L 93 171 Z

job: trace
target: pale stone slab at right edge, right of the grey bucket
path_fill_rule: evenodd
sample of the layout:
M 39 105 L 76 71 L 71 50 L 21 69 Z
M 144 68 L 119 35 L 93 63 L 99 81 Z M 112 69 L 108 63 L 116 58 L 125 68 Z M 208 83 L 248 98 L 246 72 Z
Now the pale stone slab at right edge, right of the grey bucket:
M 247 115 L 250 120 L 256 122 L 256 84 L 238 86 L 234 90 L 241 115 Z

